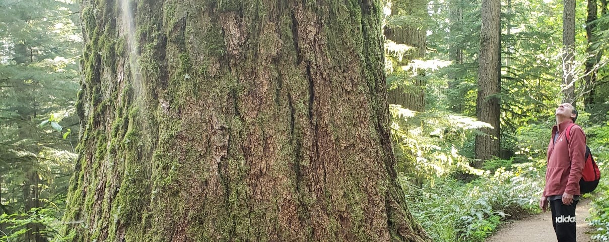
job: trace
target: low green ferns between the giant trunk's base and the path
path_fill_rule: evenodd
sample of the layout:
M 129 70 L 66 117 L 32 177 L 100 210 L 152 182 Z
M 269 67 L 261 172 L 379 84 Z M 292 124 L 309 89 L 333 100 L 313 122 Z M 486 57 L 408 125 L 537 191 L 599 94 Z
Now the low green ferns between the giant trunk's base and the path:
M 468 183 L 452 178 L 416 187 L 401 177 L 409 210 L 434 241 L 484 241 L 502 221 L 539 212 L 544 170 L 534 163 L 486 171 Z

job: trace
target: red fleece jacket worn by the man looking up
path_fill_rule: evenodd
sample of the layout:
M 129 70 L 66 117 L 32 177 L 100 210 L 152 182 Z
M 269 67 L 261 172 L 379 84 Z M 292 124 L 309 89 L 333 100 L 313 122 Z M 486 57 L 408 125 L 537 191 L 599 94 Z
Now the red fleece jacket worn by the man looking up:
M 547 146 L 546 187 L 543 196 L 569 193 L 580 195 L 579 180 L 586 155 L 586 135 L 582 127 L 574 125 L 567 143 L 566 129 L 573 121 L 568 119 L 552 127 L 552 138 Z M 554 135 L 558 138 L 554 142 Z

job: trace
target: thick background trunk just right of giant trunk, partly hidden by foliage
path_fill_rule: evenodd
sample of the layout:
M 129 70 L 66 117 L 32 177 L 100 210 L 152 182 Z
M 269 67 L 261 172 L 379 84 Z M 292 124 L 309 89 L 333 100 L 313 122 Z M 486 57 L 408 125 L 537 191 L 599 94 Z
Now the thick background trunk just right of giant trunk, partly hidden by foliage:
M 421 15 L 421 11 L 423 13 L 427 12 L 427 4 L 427 0 L 393 1 L 392 15 Z M 387 39 L 395 43 L 406 44 L 415 48 L 414 51 L 410 51 L 404 56 L 402 65 L 407 65 L 410 60 L 425 57 L 427 32 L 424 28 L 416 24 L 401 27 L 387 26 L 384 29 L 384 34 Z M 425 75 L 424 71 L 421 70 L 413 70 L 413 72 L 418 77 Z M 425 110 L 425 84 L 423 80 L 416 78 L 413 80 L 410 88 L 398 85 L 398 87 L 391 89 L 387 101 L 390 104 L 400 104 L 406 109 L 423 112 Z

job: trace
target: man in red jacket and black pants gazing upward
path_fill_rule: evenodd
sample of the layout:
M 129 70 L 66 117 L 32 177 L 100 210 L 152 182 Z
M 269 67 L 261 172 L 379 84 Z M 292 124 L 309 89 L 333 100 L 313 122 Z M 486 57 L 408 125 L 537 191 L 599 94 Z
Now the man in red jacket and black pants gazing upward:
M 566 138 L 566 129 L 577 119 L 577 111 L 569 103 L 556 109 L 556 124 L 547 146 L 546 187 L 540 207 L 552 210 L 552 226 L 558 242 L 576 242 L 575 207 L 580 198 L 579 180 L 586 154 L 586 136 L 582 127 L 574 125 Z

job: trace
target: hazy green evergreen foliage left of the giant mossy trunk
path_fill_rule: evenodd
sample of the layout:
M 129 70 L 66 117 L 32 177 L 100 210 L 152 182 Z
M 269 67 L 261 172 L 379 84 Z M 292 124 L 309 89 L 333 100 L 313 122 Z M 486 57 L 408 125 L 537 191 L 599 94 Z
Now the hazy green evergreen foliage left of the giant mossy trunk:
M 71 1 L 0 3 L 1 241 L 57 233 L 78 142 L 77 9 Z

